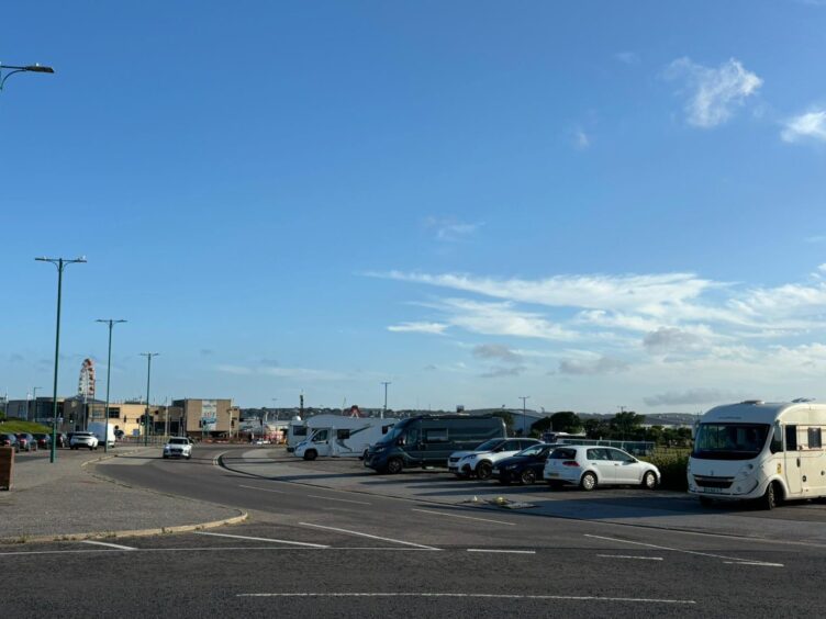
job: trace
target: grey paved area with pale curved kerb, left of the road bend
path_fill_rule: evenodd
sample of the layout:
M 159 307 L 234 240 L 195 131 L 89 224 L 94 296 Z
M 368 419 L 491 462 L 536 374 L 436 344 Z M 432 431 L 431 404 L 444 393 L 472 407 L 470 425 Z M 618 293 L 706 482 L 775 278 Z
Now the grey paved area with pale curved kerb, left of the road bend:
M 241 521 L 241 509 L 115 483 L 94 473 L 99 461 L 145 462 L 159 448 L 18 453 L 11 491 L 0 492 L 0 543 L 141 536 Z M 197 462 L 192 458 L 190 462 Z M 212 464 L 210 459 L 209 464 Z

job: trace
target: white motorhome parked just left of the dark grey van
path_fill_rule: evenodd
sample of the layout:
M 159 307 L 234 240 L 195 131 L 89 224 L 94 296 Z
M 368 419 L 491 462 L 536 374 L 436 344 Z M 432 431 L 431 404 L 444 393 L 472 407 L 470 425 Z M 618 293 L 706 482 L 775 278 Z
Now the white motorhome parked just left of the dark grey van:
M 315 460 L 319 455 L 362 457 L 379 442 L 395 419 L 316 415 L 306 420 L 310 437 L 295 447 L 295 455 Z

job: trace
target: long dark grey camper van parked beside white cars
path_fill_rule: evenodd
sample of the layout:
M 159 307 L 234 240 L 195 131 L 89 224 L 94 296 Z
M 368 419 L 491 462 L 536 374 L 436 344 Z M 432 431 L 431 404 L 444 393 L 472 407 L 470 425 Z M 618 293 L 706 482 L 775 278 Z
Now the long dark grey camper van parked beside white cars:
M 370 447 L 365 466 L 379 473 L 400 473 L 410 466 L 447 466 L 454 451 L 473 450 L 487 440 L 505 436 L 505 423 L 490 415 L 409 417 Z

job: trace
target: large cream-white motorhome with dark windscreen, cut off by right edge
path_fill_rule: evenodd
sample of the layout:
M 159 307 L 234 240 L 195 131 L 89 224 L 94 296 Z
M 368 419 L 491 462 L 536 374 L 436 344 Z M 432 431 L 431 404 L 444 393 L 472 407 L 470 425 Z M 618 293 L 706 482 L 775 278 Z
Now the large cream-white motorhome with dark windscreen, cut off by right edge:
M 703 415 L 689 458 L 689 493 L 713 499 L 826 496 L 826 404 L 757 399 L 717 406 Z

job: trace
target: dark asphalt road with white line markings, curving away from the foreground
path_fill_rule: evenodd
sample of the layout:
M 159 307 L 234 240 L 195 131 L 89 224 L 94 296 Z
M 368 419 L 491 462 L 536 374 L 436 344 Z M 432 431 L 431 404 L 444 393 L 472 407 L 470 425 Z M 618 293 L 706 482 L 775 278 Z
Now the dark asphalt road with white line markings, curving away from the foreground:
M 822 545 L 327 491 L 220 469 L 225 450 L 98 470 L 249 510 L 247 524 L 2 547 L 3 609 L 34 615 L 33 588 L 40 611 L 77 617 L 821 617 L 826 604 Z

